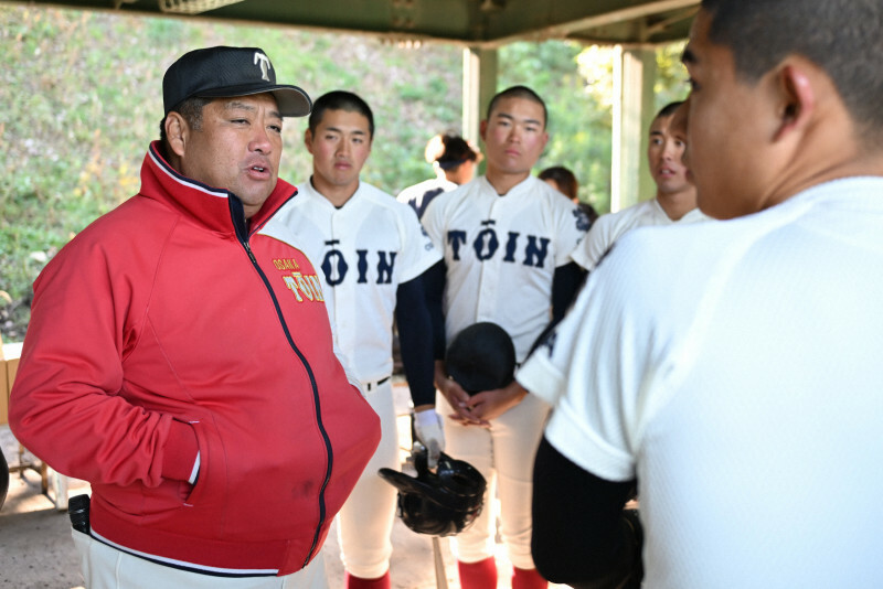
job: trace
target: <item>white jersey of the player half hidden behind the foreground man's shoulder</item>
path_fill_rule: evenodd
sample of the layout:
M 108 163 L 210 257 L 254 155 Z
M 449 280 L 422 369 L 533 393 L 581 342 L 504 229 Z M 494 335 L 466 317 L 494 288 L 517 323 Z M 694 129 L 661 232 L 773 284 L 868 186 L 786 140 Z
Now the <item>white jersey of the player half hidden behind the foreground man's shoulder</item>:
M 666 214 L 659 201 L 652 199 L 629 206 L 616 213 L 599 216 L 585 239 L 573 250 L 571 258 L 588 271 L 595 269 L 598 260 L 624 233 L 636 227 L 650 225 L 674 225 L 694 223 L 710 218 L 699 208 L 693 208 L 678 221 Z

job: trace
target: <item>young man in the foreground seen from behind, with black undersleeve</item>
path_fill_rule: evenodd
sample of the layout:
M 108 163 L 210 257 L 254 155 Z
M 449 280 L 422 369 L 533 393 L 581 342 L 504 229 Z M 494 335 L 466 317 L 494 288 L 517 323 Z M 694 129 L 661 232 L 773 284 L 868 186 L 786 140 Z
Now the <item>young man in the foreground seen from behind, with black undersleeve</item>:
M 566 390 L 534 471 L 550 578 L 642 555 L 647 588 L 883 586 L 881 22 L 703 0 L 688 161 L 727 221 L 624 236 L 524 367 Z

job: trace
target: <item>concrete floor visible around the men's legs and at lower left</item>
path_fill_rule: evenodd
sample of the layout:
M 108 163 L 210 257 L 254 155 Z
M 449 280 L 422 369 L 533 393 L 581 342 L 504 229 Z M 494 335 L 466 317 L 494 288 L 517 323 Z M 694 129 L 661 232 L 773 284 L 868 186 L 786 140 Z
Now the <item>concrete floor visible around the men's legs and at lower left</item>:
M 406 449 L 411 447 L 407 386 L 397 385 L 394 392 L 401 416 L 400 439 L 403 442 L 404 464 Z M 19 446 L 8 426 L 0 426 L 0 445 L 10 467 L 17 465 Z M 36 459 L 25 453 L 24 462 L 29 461 L 36 462 Z M 88 483 L 68 480 L 68 496 L 84 492 L 88 492 Z M 38 471 L 25 469 L 10 475 L 9 494 L 0 511 L 0 589 L 83 589 L 67 513 L 56 508 L 51 497 L 55 497 L 54 484 L 50 485 L 47 495 L 43 494 Z M 392 540 L 390 570 L 393 588 L 436 588 L 432 538 L 415 534 L 396 518 Z M 439 542 L 446 582 L 448 589 L 458 589 L 456 563 L 448 544 L 446 538 Z M 336 529 L 329 533 L 323 550 L 331 588 L 343 587 L 343 567 Z M 498 545 L 497 561 L 500 569 L 498 589 L 508 589 L 512 569 L 501 545 Z

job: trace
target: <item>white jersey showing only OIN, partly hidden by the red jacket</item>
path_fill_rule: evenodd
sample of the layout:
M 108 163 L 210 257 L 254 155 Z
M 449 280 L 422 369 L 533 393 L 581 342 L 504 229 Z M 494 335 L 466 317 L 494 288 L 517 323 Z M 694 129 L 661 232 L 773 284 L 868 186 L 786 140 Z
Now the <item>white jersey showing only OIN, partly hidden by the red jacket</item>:
M 398 285 L 442 259 L 409 206 L 365 182 L 340 208 L 299 186 L 265 232 L 288 237 L 321 268 L 328 313 L 349 365 L 362 382 L 392 373 Z

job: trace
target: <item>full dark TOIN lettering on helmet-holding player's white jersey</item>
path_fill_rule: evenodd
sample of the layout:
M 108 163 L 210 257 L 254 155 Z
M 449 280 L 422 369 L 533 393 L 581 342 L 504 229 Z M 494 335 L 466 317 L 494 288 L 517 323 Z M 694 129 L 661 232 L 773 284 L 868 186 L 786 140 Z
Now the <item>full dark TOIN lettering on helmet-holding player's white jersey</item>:
M 524 266 L 542 268 L 549 255 L 547 237 L 536 237 L 535 235 L 521 236 L 518 232 L 507 232 L 506 242 L 501 243 L 493 227 L 496 221 L 482 221 L 483 228 L 475 237 L 467 235 L 461 229 L 448 232 L 448 245 L 455 260 L 460 259 L 460 248 L 470 247 L 476 253 L 479 261 L 493 258 L 498 254 L 502 255 L 503 261 L 510 264 L 521 263 Z

